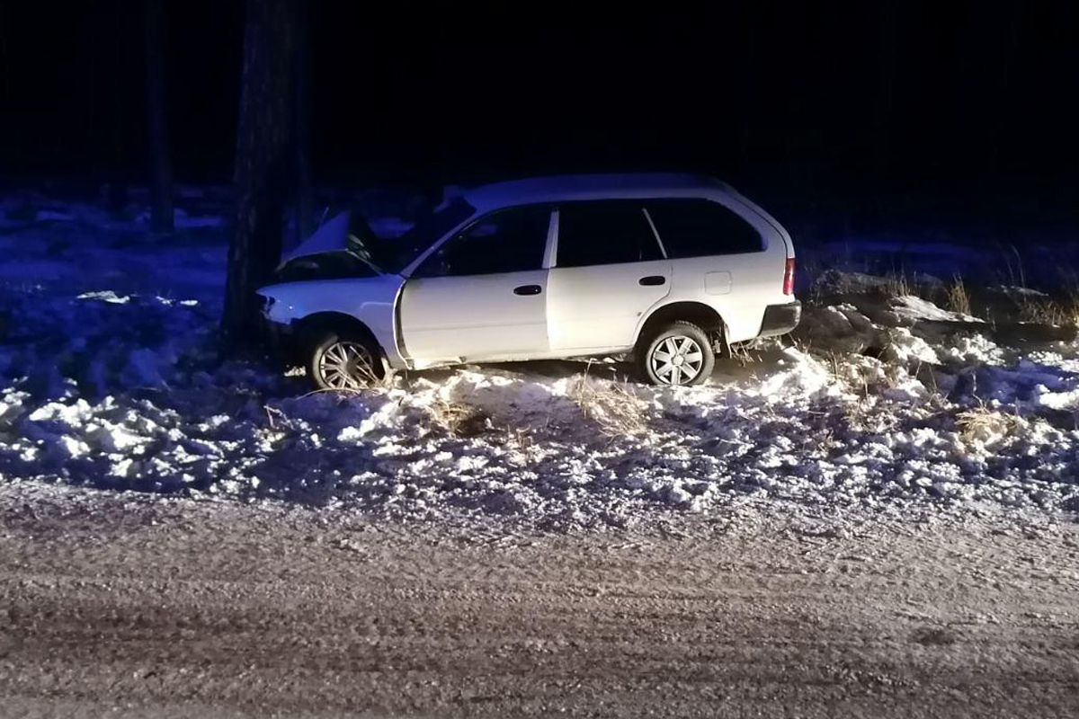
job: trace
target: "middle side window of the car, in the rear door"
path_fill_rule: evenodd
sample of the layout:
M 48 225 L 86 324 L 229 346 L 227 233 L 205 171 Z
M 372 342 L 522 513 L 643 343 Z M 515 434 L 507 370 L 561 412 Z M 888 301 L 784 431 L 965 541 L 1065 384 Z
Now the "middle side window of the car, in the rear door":
M 643 203 L 598 201 L 559 207 L 559 267 L 661 260 Z

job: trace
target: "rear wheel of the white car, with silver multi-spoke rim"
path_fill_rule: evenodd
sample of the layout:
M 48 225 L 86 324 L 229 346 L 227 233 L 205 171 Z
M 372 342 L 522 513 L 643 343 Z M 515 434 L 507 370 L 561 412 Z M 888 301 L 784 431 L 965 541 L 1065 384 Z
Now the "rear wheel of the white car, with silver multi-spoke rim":
M 641 376 L 653 385 L 699 385 L 712 376 L 715 351 L 702 329 L 679 320 L 642 343 L 637 365 Z

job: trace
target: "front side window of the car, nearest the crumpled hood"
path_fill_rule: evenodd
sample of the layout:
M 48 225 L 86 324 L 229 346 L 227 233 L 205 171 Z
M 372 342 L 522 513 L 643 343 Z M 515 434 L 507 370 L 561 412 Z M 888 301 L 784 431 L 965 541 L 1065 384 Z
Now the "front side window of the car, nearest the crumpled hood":
M 457 277 L 543 267 L 550 208 L 515 207 L 481 218 L 424 260 L 416 277 Z

